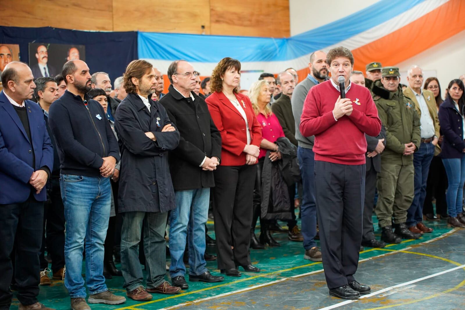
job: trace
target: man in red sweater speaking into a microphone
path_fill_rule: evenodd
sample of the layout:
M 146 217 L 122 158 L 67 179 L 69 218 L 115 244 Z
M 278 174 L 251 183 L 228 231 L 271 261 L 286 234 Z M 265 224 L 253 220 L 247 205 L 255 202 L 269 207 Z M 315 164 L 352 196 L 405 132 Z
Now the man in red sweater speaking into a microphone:
M 317 214 L 329 293 L 344 299 L 359 298 L 371 289 L 359 284 L 357 271 L 362 241 L 365 197 L 365 134 L 378 136 L 381 120 L 370 91 L 350 82 L 353 56 L 347 48 L 326 55 L 331 79 L 308 93 L 300 132 L 315 136 Z M 340 98 L 338 77 L 345 79 Z

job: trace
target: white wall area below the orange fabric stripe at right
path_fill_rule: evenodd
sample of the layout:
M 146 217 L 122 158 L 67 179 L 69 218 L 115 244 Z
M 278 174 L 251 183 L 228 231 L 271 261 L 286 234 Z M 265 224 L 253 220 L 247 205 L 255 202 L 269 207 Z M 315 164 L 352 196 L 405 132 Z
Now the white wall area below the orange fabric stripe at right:
M 424 71 L 436 71 L 441 84 L 442 95 L 447 84 L 465 74 L 465 30 L 442 41 L 438 45 L 397 64 L 400 71 L 407 71 L 411 65 L 418 65 Z M 425 76 L 425 79 L 428 76 Z M 401 83 L 407 84 L 404 79 Z

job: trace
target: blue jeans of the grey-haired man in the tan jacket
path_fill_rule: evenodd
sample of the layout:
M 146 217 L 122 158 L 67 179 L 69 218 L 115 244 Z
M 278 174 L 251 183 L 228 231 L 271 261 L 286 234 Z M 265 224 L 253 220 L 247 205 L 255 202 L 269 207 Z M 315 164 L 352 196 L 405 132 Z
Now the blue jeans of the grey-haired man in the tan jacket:
M 421 143 L 420 148 L 413 154 L 413 167 L 415 176 L 413 179 L 414 194 L 412 205 L 407 211 L 407 227 L 416 226 L 423 220 L 423 203 L 426 197 L 426 181 L 430 164 L 434 156 L 432 143 Z

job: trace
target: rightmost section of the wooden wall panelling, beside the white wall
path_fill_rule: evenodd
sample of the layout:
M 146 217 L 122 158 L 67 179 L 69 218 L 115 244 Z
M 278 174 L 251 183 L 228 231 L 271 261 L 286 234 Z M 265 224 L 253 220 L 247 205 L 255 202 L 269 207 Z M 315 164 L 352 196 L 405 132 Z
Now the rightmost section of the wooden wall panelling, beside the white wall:
M 211 34 L 289 37 L 289 0 L 210 0 Z

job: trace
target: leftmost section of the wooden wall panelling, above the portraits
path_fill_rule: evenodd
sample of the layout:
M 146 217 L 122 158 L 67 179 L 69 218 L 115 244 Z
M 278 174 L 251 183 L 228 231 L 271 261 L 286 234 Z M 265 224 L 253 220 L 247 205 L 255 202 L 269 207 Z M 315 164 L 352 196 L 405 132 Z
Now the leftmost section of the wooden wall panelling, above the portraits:
M 113 30 L 113 0 L 0 0 L 0 24 Z

